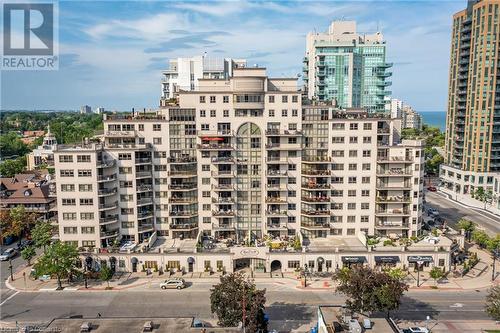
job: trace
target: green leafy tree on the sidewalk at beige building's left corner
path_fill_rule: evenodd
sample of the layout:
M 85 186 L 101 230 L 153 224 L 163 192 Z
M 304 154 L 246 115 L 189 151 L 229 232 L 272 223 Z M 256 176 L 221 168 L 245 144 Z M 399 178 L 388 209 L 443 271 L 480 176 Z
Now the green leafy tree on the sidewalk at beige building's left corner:
M 76 272 L 77 261 L 78 250 L 76 246 L 57 241 L 47 247 L 35 264 L 35 272 L 37 276 L 55 275 L 58 289 L 62 289 L 61 279 Z

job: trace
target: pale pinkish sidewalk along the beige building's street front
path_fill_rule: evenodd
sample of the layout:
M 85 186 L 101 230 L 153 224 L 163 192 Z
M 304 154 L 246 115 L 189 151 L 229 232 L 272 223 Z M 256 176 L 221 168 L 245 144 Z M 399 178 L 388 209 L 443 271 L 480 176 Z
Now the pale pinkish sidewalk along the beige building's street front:
M 491 287 L 492 275 L 492 259 L 490 255 L 480 250 L 477 247 L 470 249 L 477 252 L 479 263 L 469 271 L 464 277 L 453 277 L 453 272 L 448 274 L 447 278 L 442 278 L 439 281 L 434 281 L 429 277 L 428 272 L 420 272 L 419 287 L 417 287 L 417 273 L 409 272 L 406 282 L 409 284 L 411 290 L 428 290 L 428 289 L 445 289 L 445 290 L 470 290 L 470 289 L 485 289 Z M 14 281 L 7 281 L 6 285 L 10 289 L 17 291 L 54 291 L 57 290 L 57 281 L 51 279 L 49 281 L 33 280 L 29 278 L 31 267 L 25 267 L 14 274 Z M 23 277 L 23 272 L 26 277 Z M 500 274 L 500 263 L 496 263 L 497 276 Z M 276 283 L 286 285 L 291 288 L 299 290 L 334 290 L 335 281 L 329 277 L 308 277 L 307 287 L 303 286 L 303 278 L 297 278 L 294 273 L 283 273 L 282 277 L 271 277 L 269 273 L 255 274 L 255 282 L 260 283 Z M 188 282 L 204 282 L 204 283 L 217 283 L 219 281 L 220 273 L 188 273 L 181 274 L 175 273 L 172 275 L 159 275 L 159 273 L 152 273 L 146 275 L 145 273 L 117 273 L 111 281 L 109 281 L 109 289 L 111 291 L 128 290 L 128 289 L 144 289 L 150 288 L 152 284 L 159 284 L 170 277 L 182 277 Z M 495 281 L 495 284 L 500 283 L 500 278 Z M 107 290 L 108 284 L 100 280 L 88 280 L 87 287 L 85 288 L 84 281 L 68 283 L 63 280 L 64 290 Z

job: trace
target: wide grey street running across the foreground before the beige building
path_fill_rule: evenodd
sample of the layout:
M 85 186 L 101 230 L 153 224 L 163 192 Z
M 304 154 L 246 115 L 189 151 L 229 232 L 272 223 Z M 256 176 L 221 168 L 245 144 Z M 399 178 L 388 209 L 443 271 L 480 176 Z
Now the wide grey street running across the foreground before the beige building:
M 343 297 L 326 290 L 300 290 L 277 282 L 257 283 L 266 288 L 271 328 L 290 331 L 312 326 L 317 306 L 342 304 Z M 210 319 L 210 282 L 194 282 L 187 289 L 119 292 L 59 291 L 18 293 L 1 305 L 0 320 L 42 323 L 52 318 L 103 317 L 197 317 Z M 488 319 L 483 310 L 485 291 L 410 291 L 404 297 L 396 318 L 425 320 Z

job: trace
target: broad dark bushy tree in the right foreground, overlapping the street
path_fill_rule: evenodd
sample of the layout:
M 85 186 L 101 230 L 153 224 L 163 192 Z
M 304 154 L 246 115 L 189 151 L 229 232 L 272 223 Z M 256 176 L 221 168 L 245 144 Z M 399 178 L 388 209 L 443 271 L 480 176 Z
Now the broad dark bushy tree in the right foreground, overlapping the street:
M 408 285 L 399 277 L 369 267 L 344 268 L 334 275 L 337 291 L 347 297 L 346 305 L 354 312 L 389 312 L 399 308 Z

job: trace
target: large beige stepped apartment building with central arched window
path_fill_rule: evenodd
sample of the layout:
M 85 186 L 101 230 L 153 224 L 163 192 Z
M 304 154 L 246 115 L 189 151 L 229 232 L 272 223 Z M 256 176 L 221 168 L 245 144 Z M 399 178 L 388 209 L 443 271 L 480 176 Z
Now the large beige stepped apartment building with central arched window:
M 296 79 L 235 68 L 178 105 L 104 117 L 102 142 L 54 152 L 60 238 L 121 269 L 375 265 L 367 236 L 420 235 L 423 143 L 400 119 L 302 103 Z M 428 262 L 449 265 L 435 245 Z

